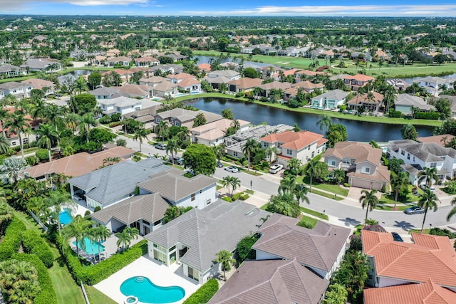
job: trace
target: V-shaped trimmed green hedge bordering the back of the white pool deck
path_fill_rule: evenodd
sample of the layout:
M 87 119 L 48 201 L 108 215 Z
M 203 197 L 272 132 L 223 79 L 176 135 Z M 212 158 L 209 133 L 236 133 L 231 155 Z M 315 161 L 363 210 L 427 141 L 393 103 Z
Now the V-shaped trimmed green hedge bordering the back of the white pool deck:
M 147 253 L 147 241 L 142 240 L 128 248 L 127 251 L 116 253 L 98 264 L 82 266 L 76 252 L 71 249 L 68 243 L 62 243 L 61 238 L 57 239 L 57 243 L 62 256 L 65 257 L 68 271 L 70 271 L 73 280 L 76 281 L 77 284 L 80 284 L 81 282 L 86 285 L 100 283 L 105 278 L 120 271 L 120 269 L 133 263 L 133 261 Z

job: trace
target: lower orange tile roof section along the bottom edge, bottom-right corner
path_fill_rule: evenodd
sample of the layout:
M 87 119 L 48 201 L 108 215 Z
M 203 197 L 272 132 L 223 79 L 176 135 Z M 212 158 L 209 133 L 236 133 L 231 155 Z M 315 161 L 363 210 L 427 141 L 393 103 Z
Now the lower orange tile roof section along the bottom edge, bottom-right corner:
M 432 280 L 364 290 L 365 304 L 452 304 L 455 299 L 456 293 L 433 283 Z

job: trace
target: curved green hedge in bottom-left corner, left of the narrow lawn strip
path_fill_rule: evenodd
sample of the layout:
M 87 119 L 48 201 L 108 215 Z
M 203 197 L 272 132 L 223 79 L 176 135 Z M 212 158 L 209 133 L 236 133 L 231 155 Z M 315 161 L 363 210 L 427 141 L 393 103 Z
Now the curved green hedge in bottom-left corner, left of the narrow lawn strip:
M 13 258 L 18 261 L 27 261 L 36 268 L 38 272 L 38 283 L 41 291 L 36 295 L 33 304 L 57 304 L 56 290 L 52 285 L 51 276 L 43 262 L 34 254 L 16 253 Z

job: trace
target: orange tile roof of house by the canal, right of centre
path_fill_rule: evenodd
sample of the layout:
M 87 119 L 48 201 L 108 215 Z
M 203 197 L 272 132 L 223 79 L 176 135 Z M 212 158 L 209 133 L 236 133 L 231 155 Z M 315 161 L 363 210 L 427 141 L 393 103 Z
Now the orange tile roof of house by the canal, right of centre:
M 284 131 L 281 133 L 273 133 L 265 137 L 261 137 L 260 140 L 263 142 L 281 142 L 281 147 L 289 148 L 292 150 L 302 150 L 305 147 L 318 142 L 318 144 L 323 144 L 326 142 L 326 139 L 322 138 L 323 135 L 316 134 L 310 131 Z

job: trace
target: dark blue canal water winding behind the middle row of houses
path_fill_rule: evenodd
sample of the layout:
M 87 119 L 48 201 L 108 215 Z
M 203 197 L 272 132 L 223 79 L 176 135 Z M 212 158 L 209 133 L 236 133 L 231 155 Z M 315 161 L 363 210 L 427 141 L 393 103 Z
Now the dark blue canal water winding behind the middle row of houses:
M 261 122 L 267 122 L 268 125 L 294 125 L 295 123 L 301 130 L 309 130 L 311 132 L 321 133 L 316 122 L 321 115 L 314 115 L 303 112 L 293 112 L 278 108 L 268 107 L 266 105 L 258 105 L 256 103 L 244 103 L 229 98 L 197 98 L 187 100 L 186 105 L 193 105 L 199 110 L 214 112 L 220 114 L 222 110 L 231 108 L 234 113 L 234 118 L 247 120 L 254 125 Z M 324 113 L 324 112 L 322 112 Z M 347 114 L 351 115 L 351 114 Z M 375 122 L 358 122 L 355 120 L 343 120 L 333 118 L 333 123 L 341 123 L 346 126 L 348 132 L 348 140 L 370 142 L 388 142 L 388 140 L 400 140 L 400 128 L 402 125 L 388 125 Z M 413 120 L 410 122 L 413 123 Z M 415 126 L 419 136 L 432 135 L 433 127 Z

